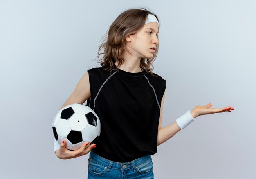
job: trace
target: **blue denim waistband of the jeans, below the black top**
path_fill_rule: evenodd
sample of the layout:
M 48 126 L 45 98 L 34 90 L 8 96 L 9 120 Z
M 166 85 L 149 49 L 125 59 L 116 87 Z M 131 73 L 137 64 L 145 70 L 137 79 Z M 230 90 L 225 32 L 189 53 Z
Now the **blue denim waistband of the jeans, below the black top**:
M 134 170 L 136 170 L 137 166 L 144 164 L 148 159 L 151 159 L 151 155 L 144 155 L 143 157 L 132 160 L 130 162 L 120 163 L 120 162 L 114 162 L 114 161 L 105 159 L 105 158 L 97 155 L 93 151 L 90 151 L 90 159 L 94 160 L 95 162 L 97 162 L 103 166 L 108 167 L 109 170 L 110 170 L 110 168 L 122 169 L 122 170 L 124 170 L 125 168 L 126 169 L 134 168 Z

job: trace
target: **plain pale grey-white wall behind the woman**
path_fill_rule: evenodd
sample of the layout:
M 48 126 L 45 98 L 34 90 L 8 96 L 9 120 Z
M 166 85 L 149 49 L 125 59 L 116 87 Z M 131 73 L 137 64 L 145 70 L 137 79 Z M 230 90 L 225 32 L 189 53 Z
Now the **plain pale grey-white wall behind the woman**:
M 235 109 L 199 116 L 160 145 L 155 178 L 256 178 L 254 0 L 0 0 L 1 179 L 87 178 L 88 155 L 54 154 L 52 120 L 132 7 L 160 19 L 163 127 L 196 105 Z

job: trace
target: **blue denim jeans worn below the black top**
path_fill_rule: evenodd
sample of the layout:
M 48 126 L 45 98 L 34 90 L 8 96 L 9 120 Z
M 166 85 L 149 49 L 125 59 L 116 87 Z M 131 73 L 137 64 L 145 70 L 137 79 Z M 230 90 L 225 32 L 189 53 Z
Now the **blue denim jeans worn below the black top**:
M 119 163 L 90 151 L 88 179 L 154 179 L 151 155 Z

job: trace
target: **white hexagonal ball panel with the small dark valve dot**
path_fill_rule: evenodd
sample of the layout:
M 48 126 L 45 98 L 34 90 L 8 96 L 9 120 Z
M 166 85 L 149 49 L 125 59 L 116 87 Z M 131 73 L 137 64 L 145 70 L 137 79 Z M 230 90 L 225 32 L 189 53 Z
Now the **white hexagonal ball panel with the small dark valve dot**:
M 88 125 L 87 119 L 83 114 L 75 113 L 68 121 L 70 123 L 70 128 L 74 131 L 83 131 L 83 129 Z

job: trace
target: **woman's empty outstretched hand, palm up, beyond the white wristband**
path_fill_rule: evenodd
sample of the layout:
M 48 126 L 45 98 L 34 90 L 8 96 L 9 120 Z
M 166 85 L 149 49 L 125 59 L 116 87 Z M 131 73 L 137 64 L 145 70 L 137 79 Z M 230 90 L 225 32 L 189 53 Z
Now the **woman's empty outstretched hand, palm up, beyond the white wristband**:
M 210 108 L 212 105 L 211 103 L 205 105 L 205 106 L 196 106 L 191 111 L 190 114 L 193 118 L 196 118 L 201 115 L 205 114 L 214 114 L 214 113 L 222 113 L 222 112 L 231 112 L 230 110 L 234 110 L 233 107 L 223 107 L 223 108 Z

